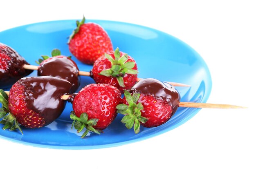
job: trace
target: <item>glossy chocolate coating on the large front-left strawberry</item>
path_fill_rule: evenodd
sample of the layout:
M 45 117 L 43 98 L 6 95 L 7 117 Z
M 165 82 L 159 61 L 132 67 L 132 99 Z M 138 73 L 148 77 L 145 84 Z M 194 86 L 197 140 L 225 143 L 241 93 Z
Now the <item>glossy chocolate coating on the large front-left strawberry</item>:
M 25 87 L 27 108 L 45 120 L 45 126 L 57 119 L 65 108 L 61 96 L 70 92 L 71 83 L 57 77 L 25 77 L 19 80 Z

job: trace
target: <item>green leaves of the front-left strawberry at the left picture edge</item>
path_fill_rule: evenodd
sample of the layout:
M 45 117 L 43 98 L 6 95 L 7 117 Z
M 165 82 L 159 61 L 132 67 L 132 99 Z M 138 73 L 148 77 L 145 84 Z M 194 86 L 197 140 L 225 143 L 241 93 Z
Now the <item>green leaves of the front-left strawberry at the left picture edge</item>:
M 9 129 L 10 131 L 13 130 L 20 130 L 21 134 L 23 135 L 23 132 L 19 126 L 18 121 L 16 120 L 16 117 L 13 116 L 13 114 L 10 113 L 8 108 L 8 95 L 0 89 L 0 103 L 2 104 L 2 108 L 0 108 L 0 124 L 4 124 L 3 130 Z

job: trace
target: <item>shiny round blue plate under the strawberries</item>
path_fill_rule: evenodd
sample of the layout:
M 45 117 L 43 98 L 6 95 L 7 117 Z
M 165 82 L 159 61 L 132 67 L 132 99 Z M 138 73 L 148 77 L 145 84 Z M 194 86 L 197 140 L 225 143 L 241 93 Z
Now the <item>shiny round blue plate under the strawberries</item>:
M 145 26 L 105 20 L 87 20 L 100 24 L 109 34 L 114 49 L 132 56 L 138 65 L 140 78 L 156 78 L 169 82 L 190 84 L 191 87 L 177 87 L 183 102 L 206 102 L 211 92 L 209 69 L 200 55 L 190 46 L 171 35 Z M 0 33 L 0 42 L 18 51 L 27 62 L 36 65 L 40 55 L 50 55 L 58 48 L 63 55 L 72 55 L 67 46 L 67 37 L 76 27 L 75 20 L 60 20 L 29 24 L 9 29 Z M 92 66 L 85 65 L 75 57 L 81 71 L 90 71 Z M 34 71 L 30 76 L 36 76 Z M 94 83 L 90 77 L 81 77 L 80 89 Z M 9 90 L 9 89 L 5 89 Z M 179 108 L 175 115 L 162 126 L 156 128 L 141 127 L 135 135 L 120 122 L 118 115 L 105 133 L 90 133 L 84 139 L 76 130 L 71 130 L 69 115 L 72 105 L 67 106 L 61 117 L 52 124 L 39 129 L 23 128 L 20 132 L 0 129 L 0 137 L 31 146 L 58 149 L 92 149 L 119 146 L 141 141 L 172 130 L 191 119 L 200 109 Z M 2 124 L 0 125 L 2 128 Z

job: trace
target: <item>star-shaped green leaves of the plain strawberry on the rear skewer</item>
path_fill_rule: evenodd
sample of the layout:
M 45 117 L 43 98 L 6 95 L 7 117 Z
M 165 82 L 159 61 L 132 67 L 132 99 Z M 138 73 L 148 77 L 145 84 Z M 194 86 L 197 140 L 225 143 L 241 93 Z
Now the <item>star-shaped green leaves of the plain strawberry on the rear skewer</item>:
M 125 74 L 138 74 L 137 70 L 132 69 L 135 66 L 135 62 L 127 62 L 128 55 L 124 54 L 120 56 L 119 48 L 115 50 L 115 59 L 113 59 L 109 54 L 105 53 L 105 57 L 111 62 L 111 68 L 101 71 L 100 75 L 107 77 L 116 77 L 117 82 L 121 87 L 124 85 L 124 75 Z

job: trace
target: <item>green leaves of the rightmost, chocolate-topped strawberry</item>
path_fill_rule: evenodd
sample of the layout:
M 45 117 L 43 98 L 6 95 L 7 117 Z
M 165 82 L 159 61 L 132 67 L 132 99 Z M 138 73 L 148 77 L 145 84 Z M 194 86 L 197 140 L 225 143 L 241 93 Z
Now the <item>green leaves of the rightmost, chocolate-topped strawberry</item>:
M 133 93 L 132 95 L 129 91 L 124 90 L 124 96 L 126 97 L 126 104 L 117 105 L 117 113 L 125 115 L 121 120 L 122 123 L 125 124 L 126 128 L 131 129 L 133 126 L 134 132 L 139 133 L 139 127 L 141 123 L 146 123 L 148 120 L 146 117 L 141 116 L 141 110 L 143 110 L 143 105 L 139 102 L 139 93 Z

